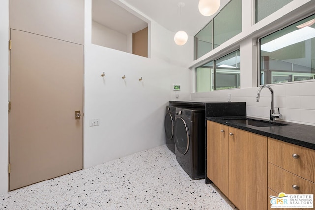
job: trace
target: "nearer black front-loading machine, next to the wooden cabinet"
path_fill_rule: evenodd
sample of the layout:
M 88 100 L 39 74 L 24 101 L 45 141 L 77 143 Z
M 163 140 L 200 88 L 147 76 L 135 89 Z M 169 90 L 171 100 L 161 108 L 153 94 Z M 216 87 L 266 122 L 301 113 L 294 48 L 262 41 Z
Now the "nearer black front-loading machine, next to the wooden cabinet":
M 205 178 L 205 109 L 204 107 L 175 110 L 175 156 L 193 180 Z

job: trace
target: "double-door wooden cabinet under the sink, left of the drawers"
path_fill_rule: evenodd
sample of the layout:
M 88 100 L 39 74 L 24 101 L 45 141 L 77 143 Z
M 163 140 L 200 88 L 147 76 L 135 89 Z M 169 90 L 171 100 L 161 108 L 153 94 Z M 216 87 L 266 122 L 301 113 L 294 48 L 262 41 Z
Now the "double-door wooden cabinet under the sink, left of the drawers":
M 267 137 L 208 121 L 207 176 L 240 210 L 266 210 Z

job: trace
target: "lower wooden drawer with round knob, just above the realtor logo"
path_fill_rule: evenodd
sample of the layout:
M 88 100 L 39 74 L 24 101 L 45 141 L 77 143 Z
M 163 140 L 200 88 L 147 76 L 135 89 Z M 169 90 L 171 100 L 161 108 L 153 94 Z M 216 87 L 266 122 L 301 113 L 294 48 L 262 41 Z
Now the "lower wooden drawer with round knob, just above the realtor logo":
M 297 185 L 298 189 L 293 189 Z M 314 194 L 314 183 L 268 163 L 268 187 L 276 193 Z

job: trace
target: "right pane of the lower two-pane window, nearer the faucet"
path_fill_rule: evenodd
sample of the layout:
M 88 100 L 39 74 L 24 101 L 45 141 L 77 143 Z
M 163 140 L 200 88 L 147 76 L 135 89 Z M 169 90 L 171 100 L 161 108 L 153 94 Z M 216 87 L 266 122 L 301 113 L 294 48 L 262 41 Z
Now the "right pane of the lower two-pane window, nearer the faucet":
M 239 88 L 241 84 L 240 50 L 215 60 L 215 90 Z

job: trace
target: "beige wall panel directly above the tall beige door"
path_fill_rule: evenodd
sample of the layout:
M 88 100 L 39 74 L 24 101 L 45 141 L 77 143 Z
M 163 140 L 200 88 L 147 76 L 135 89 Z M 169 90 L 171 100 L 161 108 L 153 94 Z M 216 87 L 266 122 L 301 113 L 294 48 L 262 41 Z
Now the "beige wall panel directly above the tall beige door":
M 83 44 L 83 5 L 84 0 L 10 0 L 10 28 Z

